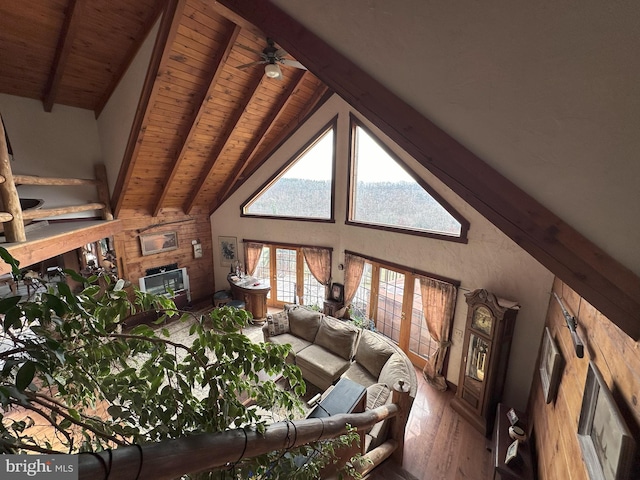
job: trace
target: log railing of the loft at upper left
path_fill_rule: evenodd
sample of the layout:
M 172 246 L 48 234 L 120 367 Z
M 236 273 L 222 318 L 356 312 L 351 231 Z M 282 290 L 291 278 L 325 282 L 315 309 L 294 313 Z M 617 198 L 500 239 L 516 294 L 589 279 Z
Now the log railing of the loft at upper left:
M 13 175 L 9 151 L 4 134 L 4 124 L 0 118 L 0 222 L 4 223 L 4 234 L 8 243 L 26 242 L 25 220 L 65 215 L 68 213 L 100 210 L 103 220 L 113 220 L 109 201 L 107 171 L 102 164 L 95 166 L 95 179 L 52 178 L 31 175 Z M 16 184 L 45 186 L 94 185 L 98 189 L 98 202 L 58 208 L 42 208 L 23 211 Z

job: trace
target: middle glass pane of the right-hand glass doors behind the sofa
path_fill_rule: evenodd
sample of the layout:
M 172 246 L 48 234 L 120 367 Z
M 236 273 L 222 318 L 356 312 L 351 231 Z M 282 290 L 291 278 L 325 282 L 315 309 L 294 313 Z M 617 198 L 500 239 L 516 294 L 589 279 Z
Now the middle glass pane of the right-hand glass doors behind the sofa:
M 376 328 L 383 335 L 398 343 L 400 341 L 400 324 L 402 322 L 404 275 L 393 270 L 380 268 L 380 287 L 378 292 Z

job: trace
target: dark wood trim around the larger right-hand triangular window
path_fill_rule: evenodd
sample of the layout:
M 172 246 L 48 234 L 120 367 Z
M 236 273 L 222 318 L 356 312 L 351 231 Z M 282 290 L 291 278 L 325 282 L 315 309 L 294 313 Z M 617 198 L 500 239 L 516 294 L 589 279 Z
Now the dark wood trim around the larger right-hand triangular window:
M 353 211 L 355 209 L 354 197 L 355 197 L 355 185 L 353 168 L 355 166 L 355 147 L 356 147 L 356 129 L 362 128 L 367 132 L 369 136 L 382 148 L 394 161 L 401 165 L 404 170 L 411 176 L 411 178 L 422 187 L 433 199 L 440 204 L 453 218 L 460 223 L 460 235 L 451 235 L 446 233 L 430 232 L 426 230 L 414 230 L 411 228 L 403 228 L 393 225 L 382 225 L 376 223 L 362 222 L 352 219 Z M 403 233 L 406 235 L 414 235 L 418 237 L 428 237 L 438 240 L 446 240 L 456 243 L 468 243 L 467 233 L 469 231 L 469 221 L 464 218 L 455 208 L 453 208 L 449 202 L 440 196 L 422 177 L 414 172 L 409 166 L 398 157 L 377 135 L 375 135 L 370 128 L 368 128 L 353 112 L 349 113 L 349 152 L 347 160 L 348 176 L 347 176 L 347 211 L 345 216 L 345 225 L 353 225 L 356 227 L 371 228 L 374 230 L 384 230 L 388 232 Z

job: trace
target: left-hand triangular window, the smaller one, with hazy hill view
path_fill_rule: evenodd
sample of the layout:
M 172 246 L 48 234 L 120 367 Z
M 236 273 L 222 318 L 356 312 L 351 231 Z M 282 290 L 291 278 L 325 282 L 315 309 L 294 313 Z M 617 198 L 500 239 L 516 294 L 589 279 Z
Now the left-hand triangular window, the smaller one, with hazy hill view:
M 335 122 L 242 206 L 243 215 L 333 220 Z

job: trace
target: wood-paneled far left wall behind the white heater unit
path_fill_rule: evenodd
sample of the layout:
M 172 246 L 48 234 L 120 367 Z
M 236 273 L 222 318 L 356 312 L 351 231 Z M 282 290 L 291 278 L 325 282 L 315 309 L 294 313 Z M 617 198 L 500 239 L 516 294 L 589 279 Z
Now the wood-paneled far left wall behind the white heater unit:
M 158 217 L 121 215 L 122 233 L 114 238 L 121 276 L 138 286 L 138 279 L 149 268 L 177 263 L 187 267 L 191 286 L 191 300 L 204 300 L 213 293 L 213 251 L 209 216 L 163 214 Z M 178 249 L 152 255 L 142 255 L 140 234 L 175 231 Z M 192 240 L 202 244 L 202 257 L 193 257 Z

